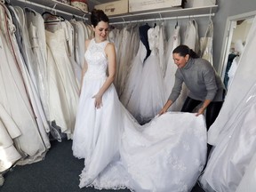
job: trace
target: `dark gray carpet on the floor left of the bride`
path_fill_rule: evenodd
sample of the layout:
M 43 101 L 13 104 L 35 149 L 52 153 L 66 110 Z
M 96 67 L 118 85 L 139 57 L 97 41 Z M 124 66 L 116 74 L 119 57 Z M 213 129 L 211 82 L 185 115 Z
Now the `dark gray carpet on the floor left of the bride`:
M 45 159 L 35 164 L 14 166 L 4 174 L 1 192 L 82 192 L 115 191 L 78 188 L 79 177 L 84 168 L 84 160 L 72 155 L 72 140 L 52 141 L 52 148 Z M 118 190 L 130 192 L 128 189 Z M 171 192 L 171 191 L 170 191 Z M 204 192 L 197 185 L 191 192 Z

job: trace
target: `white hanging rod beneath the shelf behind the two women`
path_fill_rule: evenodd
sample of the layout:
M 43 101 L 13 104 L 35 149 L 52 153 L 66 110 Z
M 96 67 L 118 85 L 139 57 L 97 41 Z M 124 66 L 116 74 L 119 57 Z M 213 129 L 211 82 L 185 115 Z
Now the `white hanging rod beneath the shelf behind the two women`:
M 123 21 L 119 22 L 110 22 L 110 25 L 118 25 L 118 24 L 125 24 L 125 23 L 137 23 L 137 22 L 145 22 L 145 21 L 156 21 L 156 20 L 180 20 L 180 19 L 190 19 L 190 18 L 201 18 L 201 17 L 212 17 L 215 13 L 209 13 L 209 14 L 200 14 L 200 15 L 187 15 L 187 16 L 177 16 L 177 17 L 166 17 L 166 18 L 155 18 L 155 19 L 146 19 L 146 20 L 127 20 L 125 21 L 124 18 Z

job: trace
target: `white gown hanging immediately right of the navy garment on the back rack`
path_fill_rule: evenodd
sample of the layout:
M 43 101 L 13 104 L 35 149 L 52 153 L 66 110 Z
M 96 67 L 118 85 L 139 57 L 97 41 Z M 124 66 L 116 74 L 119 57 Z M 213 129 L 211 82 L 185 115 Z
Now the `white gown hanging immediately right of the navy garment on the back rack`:
M 164 95 L 164 72 L 159 61 L 159 35 L 160 27 L 148 29 L 148 44 L 151 50 L 147 60 L 145 60 L 139 82 L 137 99 L 139 101 L 139 116 L 135 118 L 140 123 L 151 120 L 163 108 Z

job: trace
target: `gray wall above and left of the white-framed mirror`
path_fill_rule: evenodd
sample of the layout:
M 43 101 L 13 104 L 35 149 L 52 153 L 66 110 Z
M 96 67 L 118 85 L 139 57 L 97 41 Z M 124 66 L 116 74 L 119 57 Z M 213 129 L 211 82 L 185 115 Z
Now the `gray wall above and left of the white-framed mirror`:
M 220 68 L 222 44 L 225 40 L 225 28 L 228 17 L 245 12 L 256 10 L 255 0 L 219 0 L 217 1 L 219 10 L 213 17 L 214 37 L 213 37 L 213 65 L 218 70 Z

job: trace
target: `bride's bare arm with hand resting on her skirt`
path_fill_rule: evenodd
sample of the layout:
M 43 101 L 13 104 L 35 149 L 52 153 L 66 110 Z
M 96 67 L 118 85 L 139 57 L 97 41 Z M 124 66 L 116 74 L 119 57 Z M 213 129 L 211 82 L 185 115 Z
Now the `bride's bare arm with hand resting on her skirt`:
M 93 96 L 95 98 L 95 108 L 102 106 L 102 95 L 108 90 L 108 87 L 114 82 L 116 75 L 116 50 L 115 45 L 108 43 L 105 48 L 108 57 L 108 78 L 105 83 L 100 87 L 99 92 Z

